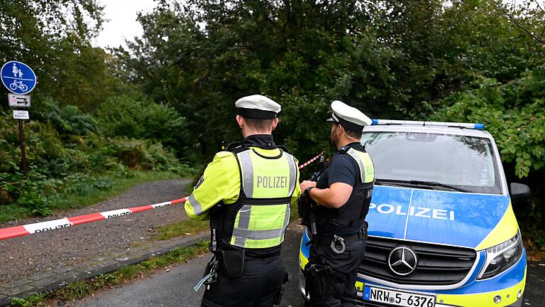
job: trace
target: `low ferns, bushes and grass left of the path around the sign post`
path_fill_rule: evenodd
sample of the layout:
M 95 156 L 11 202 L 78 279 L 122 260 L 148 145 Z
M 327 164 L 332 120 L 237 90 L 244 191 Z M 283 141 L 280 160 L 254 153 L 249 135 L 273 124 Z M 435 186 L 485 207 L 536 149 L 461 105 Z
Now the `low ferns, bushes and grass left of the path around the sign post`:
M 120 97 L 84 114 L 45 102 L 25 125 L 28 178 L 18 169 L 17 126 L 8 112 L 0 116 L 0 222 L 81 208 L 137 183 L 194 173 L 163 145 L 183 118 L 159 104 Z M 165 134 L 155 135 L 161 129 Z

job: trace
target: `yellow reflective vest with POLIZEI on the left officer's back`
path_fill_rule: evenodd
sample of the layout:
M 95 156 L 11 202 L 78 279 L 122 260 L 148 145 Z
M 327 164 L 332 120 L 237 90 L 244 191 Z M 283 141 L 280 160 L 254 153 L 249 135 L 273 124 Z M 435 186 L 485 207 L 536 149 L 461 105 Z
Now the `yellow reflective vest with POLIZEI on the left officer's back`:
M 221 210 L 221 237 L 228 237 L 236 247 L 275 247 L 284 241 L 292 195 L 299 185 L 296 160 L 284 151 L 275 157 L 262 156 L 254 149 L 234 154 L 241 192 L 236 203 Z

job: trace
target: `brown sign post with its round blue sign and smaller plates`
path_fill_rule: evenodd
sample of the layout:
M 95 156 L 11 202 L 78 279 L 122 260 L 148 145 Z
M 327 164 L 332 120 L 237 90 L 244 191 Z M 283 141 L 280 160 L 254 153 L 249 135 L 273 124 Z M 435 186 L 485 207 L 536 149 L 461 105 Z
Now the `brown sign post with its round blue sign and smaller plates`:
M 31 107 L 31 96 L 26 95 L 34 90 L 36 86 L 36 75 L 34 70 L 25 63 L 9 61 L 2 65 L 0 78 L 4 86 L 13 94 L 8 94 L 9 107 Z M 28 178 L 28 167 L 26 166 L 25 135 L 23 133 L 23 119 L 29 119 L 28 111 L 13 109 L 13 118 L 17 119 L 19 125 L 19 141 L 21 142 L 21 170 Z

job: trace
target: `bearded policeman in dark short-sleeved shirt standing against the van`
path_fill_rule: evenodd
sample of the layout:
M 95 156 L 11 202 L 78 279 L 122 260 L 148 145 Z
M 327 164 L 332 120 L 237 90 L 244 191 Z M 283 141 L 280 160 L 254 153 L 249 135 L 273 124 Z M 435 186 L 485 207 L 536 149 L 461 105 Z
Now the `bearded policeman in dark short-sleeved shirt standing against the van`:
M 331 109 L 331 142 L 338 151 L 316 181 L 301 183 L 302 197 L 317 204 L 317 235 L 304 274 L 311 306 L 356 306 L 356 275 L 365 252 L 365 215 L 375 179 L 360 139 L 371 120 L 338 100 Z

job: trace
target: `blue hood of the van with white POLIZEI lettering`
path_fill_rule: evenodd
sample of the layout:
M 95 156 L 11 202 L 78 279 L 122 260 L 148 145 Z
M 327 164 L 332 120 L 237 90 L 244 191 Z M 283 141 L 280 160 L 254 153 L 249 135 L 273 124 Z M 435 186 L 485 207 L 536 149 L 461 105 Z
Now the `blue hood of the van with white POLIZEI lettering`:
M 476 248 L 510 205 L 506 195 L 375 185 L 369 235 Z

